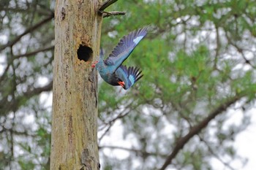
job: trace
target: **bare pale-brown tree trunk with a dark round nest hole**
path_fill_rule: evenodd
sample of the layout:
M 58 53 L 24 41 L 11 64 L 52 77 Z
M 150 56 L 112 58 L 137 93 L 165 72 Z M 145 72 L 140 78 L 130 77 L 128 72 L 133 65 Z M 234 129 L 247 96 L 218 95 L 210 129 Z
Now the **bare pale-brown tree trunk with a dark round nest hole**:
M 50 169 L 99 169 L 97 72 L 99 0 L 56 1 Z M 46 33 L 47 34 L 47 33 Z

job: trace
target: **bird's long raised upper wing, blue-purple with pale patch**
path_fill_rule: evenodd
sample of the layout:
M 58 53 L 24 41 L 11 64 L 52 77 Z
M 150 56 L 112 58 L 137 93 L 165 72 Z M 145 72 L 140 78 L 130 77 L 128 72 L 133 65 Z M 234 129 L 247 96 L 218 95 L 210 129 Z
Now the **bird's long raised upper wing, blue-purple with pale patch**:
M 141 39 L 147 34 L 147 27 L 140 28 L 138 31 L 132 31 L 124 36 L 112 53 L 104 61 L 107 66 L 115 66 L 116 69 L 123 63 L 132 53 L 132 50 L 138 45 Z

